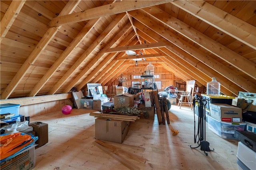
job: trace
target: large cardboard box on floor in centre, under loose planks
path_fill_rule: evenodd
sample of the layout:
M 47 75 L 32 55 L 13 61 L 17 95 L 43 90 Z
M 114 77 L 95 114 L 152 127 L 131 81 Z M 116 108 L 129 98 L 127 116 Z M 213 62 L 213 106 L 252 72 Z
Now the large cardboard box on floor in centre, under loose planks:
M 95 119 L 95 138 L 122 143 L 129 131 L 129 125 L 129 121 L 97 118 Z

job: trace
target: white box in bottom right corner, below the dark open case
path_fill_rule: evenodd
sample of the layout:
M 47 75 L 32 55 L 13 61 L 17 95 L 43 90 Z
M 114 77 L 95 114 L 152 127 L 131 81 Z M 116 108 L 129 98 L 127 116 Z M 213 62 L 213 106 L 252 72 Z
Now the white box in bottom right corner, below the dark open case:
M 256 170 L 256 152 L 242 142 L 238 142 L 236 157 L 249 169 Z

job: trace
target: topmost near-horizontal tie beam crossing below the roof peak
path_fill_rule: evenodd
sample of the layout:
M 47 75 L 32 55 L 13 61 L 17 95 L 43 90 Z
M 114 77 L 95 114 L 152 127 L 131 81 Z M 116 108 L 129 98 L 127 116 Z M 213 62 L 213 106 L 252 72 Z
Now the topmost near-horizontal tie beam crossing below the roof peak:
M 72 13 L 66 16 L 61 16 L 53 18 L 48 24 L 48 27 L 56 27 L 64 24 L 71 24 L 74 22 L 81 22 L 86 20 L 92 20 L 94 18 L 99 18 L 102 16 L 108 16 L 113 14 L 119 14 L 122 12 L 136 10 L 140 8 L 145 8 L 148 6 L 155 6 L 159 4 L 165 4 L 170 2 L 170 0 L 133 0 L 133 1 L 121 1 L 115 2 L 114 4 L 108 4 L 103 6 L 98 6 L 96 8 L 91 8 L 82 12 Z

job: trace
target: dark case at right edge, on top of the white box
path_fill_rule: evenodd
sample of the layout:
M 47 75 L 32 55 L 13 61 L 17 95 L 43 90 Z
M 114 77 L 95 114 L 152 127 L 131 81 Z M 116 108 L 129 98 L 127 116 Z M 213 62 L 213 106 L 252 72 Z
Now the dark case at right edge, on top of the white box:
M 240 142 L 242 142 L 244 145 L 246 145 L 248 148 L 250 148 L 254 152 L 256 152 L 256 133 L 248 132 L 248 131 L 235 130 L 234 136 Z

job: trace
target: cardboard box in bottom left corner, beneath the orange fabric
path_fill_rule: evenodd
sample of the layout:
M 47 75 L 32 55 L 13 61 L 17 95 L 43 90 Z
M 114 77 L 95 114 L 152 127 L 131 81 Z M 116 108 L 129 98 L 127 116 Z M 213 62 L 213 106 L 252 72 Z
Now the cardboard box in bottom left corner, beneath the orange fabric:
M 22 152 L 1 162 L 1 170 L 30 170 L 36 166 L 35 146 L 26 148 Z

